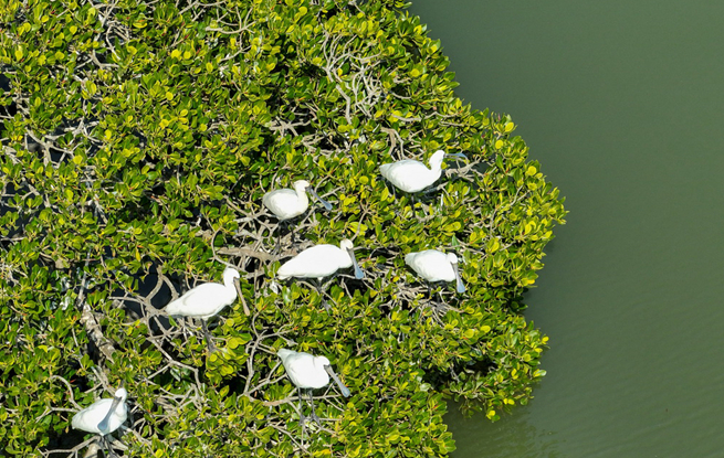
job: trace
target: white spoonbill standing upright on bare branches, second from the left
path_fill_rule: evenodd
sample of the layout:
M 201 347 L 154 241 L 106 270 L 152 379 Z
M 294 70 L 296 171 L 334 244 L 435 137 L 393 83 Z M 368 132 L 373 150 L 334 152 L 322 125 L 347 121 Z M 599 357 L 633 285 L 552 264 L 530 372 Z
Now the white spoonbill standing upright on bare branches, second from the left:
M 223 285 L 218 283 L 204 283 L 198 285 L 183 294 L 183 296 L 166 306 L 166 312 L 170 317 L 189 317 L 201 319 L 201 327 L 207 339 L 209 352 L 216 350 L 211 334 L 207 328 L 207 320 L 219 313 L 224 307 L 230 306 L 237 299 L 242 298 L 241 286 L 239 285 L 239 270 L 233 267 L 223 269 Z M 250 315 L 246 303 L 242 300 L 244 313 Z

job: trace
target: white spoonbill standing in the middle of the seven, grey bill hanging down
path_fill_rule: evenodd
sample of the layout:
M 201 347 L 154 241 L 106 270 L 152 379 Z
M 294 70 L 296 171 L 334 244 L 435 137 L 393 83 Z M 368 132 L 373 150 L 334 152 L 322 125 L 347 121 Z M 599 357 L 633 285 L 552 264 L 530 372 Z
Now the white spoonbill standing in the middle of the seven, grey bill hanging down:
M 284 263 L 276 271 L 276 276 L 281 280 L 290 277 L 316 278 L 317 291 L 322 298 L 322 279 L 339 269 L 354 267 L 355 278 L 365 278 L 365 273 L 357 265 L 353 246 L 351 241 L 347 238 L 343 239 L 338 247 L 327 244 L 312 246 Z M 324 299 L 322 299 L 322 303 L 328 308 Z

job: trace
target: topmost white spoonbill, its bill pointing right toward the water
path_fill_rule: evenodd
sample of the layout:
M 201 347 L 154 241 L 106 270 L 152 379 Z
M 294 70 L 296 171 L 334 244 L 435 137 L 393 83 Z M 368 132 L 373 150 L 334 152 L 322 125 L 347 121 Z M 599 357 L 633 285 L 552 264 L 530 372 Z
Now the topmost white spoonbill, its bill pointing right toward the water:
M 460 152 L 445 155 L 443 150 L 438 150 L 430 157 L 429 169 L 415 159 L 403 159 L 384 163 L 379 167 L 379 171 L 396 188 L 405 192 L 419 192 L 438 181 L 442 173 L 442 160 L 450 156 L 465 157 Z

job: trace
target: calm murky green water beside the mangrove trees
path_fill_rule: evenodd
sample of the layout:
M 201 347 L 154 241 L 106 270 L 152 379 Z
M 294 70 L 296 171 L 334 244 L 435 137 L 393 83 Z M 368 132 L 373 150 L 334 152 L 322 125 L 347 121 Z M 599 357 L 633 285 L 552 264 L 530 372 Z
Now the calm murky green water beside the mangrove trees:
M 453 457 L 724 457 L 724 2 L 413 0 L 566 196 L 535 400 Z

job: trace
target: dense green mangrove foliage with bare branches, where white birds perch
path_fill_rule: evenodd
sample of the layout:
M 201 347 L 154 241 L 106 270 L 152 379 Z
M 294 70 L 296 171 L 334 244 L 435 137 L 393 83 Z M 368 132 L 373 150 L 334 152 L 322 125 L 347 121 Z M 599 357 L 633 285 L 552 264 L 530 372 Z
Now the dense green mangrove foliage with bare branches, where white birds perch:
M 70 418 L 120 382 L 126 456 L 445 456 L 445 398 L 496 419 L 525 404 L 546 338 L 522 294 L 565 211 L 507 116 L 454 96 L 448 60 L 400 1 L 0 2 L 0 444 L 77 455 Z M 392 193 L 378 167 L 437 149 L 437 189 Z M 283 253 L 264 192 L 307 179 Z M 274 281 L 291 254 L 353 238 L 367 276 Z M 301 243 L 300 243 L 301 242 Z M 427 286 L 411 251 L 454 251 L 468 291 Z M 160 310 L 242 271 L 211 322 Z M 275 350 L 326 355 L 302 435 Z M 87 435 L 86 438 L 91 438 Z M 85 446 L 86 444 L 82 444 Z M 303 451 L 306 450 L 306 451 Z

